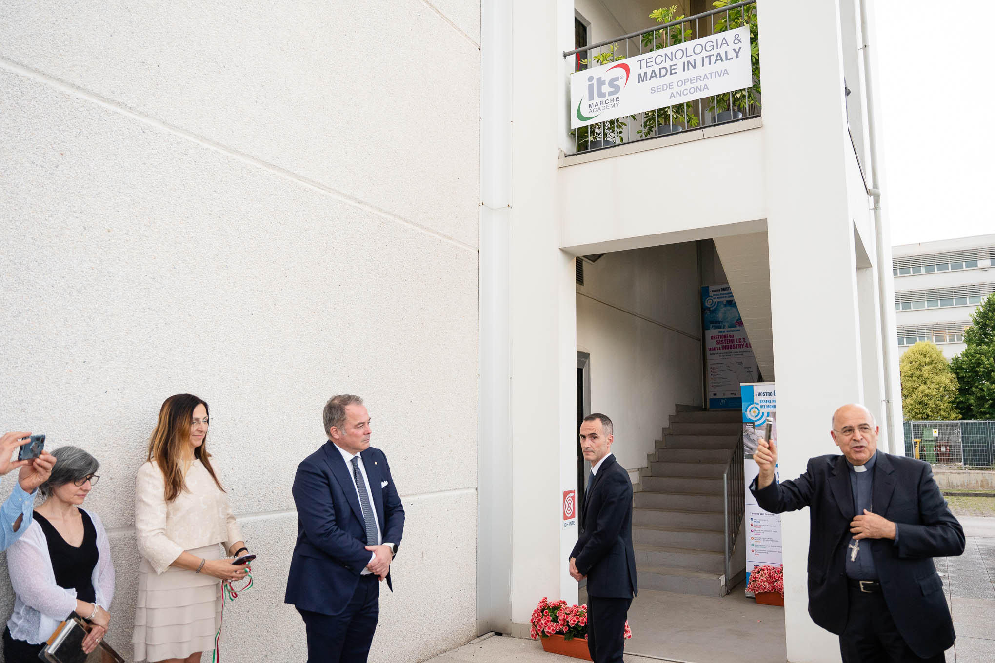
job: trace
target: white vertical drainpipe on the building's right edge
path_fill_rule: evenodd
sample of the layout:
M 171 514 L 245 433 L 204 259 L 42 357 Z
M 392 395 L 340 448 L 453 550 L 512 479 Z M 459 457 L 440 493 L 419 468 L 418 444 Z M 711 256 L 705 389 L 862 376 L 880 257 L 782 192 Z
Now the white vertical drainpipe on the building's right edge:
M 868 1 L 859 0 L 861 5 L 861 41 L 864 50 L 864 98 L 868 104 L 868 142 L 871 148 L 871 188 L 868 195 L 874 199 L 874 229 L 875 245 L 878 258 L 878 298 L 881 310 L 881 337 L 882 337 L 882 358 L 885 362 L 885 416 L 888 420 L 888 445 L 890 453 L 904 455 L 904 443 L 899 446 L 895 422 L 895 392 L 891 371 L 895 351 L 892 347 L 894 341 L 895 325 L 891 324 L 891 319 L 895 316 L 895 295 L 889 285 L 892 284 L 892 255 L 891 248 L 885 246 L 885 227 L 882 221 L 881 206 L 881 176 L 878 173 L 878 133 L 877 109 L 875 107 L 874 96 L 874 67 L 870 62 L 871 37 L 868 26 Z M 900 427 L 899 427 L 900 429 Z

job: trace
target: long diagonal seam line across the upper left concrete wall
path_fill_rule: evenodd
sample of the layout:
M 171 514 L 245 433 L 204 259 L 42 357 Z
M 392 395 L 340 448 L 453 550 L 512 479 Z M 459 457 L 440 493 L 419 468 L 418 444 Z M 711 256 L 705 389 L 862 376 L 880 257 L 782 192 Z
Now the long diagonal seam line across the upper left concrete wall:
M 61 81 L 53 76 L 44 74 L 37 70 L 33 70 L 29 67 L 25 67 L 24 65 L 11 62 L 10 60 L 7 60 L 5 58 L 0 58 L 0 69 L 4 69 L 10 72 L 11 74 L 36 81 L 38 83 L 43 83 L 45 85 L 58 89 L 61 92 L 72 94 L 73 96 L 77 96 L 92 103 L 96 103 L 97 105 L 100 105 L 101 107 L 106 108 L 112 112 L 116 112 L 126 117 L 130 117 L 135 121 L 160 129 L 162 131 L 175 135 L 184 140 L 188 140 L 197 145 L 200 145 L 201 147 L 214 150 L 216 152 L 220 152 L 221 154 L 224 154 L 227 157 L 237 159 L 247 165 L 260 168 L 274 175 L 277 175 L 278 177 L 281 177 L 285 180 L 290 180 L 292 182 L 297 183 L 300 186 L 311 189 L 313 191 L 317 191 L 327 196 L 331 196 L 332 198 L 335 198 L 347 205 L 359 208 L 360 210 L 369 212 L 383 219 L 393 221 L 398 225 L 406 226 L 412 230 L 424 233 L 425 235 L 432 236 L 437 240 L 442 240 L 443 242 L 446 242 L 460 249 L 466 249 L 474 253 L 478 252 L 478 249 L 476 247 L 472 247 L 471 245 L 468 245 L 464 242 L 460 242 L 459 240 L 443 235 L 438 231 L 434 231 L 425 226 L 417 224 L 413 221 L 408 221 L 407 219 L 399 217 L 392 212 L 388 212 L 387 210 L 378 208 L 374 205 L 370 205 L 369 203 L 365 203 L 357 198 L 353 198 L 348 194 L 345 194 L 336 189 L 332 189 L 331 187 L 321 184 L 316 180 L 311 180 L 310 178 L 298 175 L 298 173 L 295 173 L 294 171 L 288 170 L 276 164 L 272 164 L 268 161 L 264 161 L 263 159 L 260 159 L 259 157 L 254 157 L 250 154 L 247 154 L 246 152 L 242 152 L 235 148 L 228 147 L 221 143 L 215 142 L 213 140 L 210 140 L 209 138 L 200 136 L 192 131 L 188 131 L 187 129 L 183 129 L 178 126 L 169 124 L 168 122 L 165 122 L 163 120 L 155 119 L 154 117 L 142 114 L 136 110 L 128 108 L 125 105 L 122 105 L 117 101 L 105 98 L 100 94 L 97 94 L 96 92 L 91 92 L 76 84 Z

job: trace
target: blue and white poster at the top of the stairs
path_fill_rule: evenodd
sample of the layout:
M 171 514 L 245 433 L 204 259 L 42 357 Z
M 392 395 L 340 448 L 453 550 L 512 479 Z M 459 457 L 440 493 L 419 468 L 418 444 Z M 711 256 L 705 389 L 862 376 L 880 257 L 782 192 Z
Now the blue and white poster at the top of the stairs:
M 728 284 L 701 287 L 708 409 L 738 410 L 739 385 L 759 378 L 753 348 Z

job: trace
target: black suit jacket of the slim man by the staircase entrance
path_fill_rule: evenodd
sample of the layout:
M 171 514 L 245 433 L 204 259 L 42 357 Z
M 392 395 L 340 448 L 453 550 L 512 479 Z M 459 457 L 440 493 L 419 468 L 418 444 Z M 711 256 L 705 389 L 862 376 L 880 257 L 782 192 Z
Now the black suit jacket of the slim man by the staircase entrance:
M 605 458 L 584 496 L 586 508 L 577 544 L 570 553 L 587 576 L 589 596 L 636 595 L 636 554 L 632 549 L 632 481 L 629 472 Z

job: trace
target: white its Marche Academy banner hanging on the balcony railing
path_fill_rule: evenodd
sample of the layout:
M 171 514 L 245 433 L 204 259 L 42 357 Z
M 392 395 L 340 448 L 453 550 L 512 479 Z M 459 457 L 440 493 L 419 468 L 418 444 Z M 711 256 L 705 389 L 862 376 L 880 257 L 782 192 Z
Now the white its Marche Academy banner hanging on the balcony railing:
M 749 28 L 736 28 L 571 74 L 570 128 L 752 84 Z

